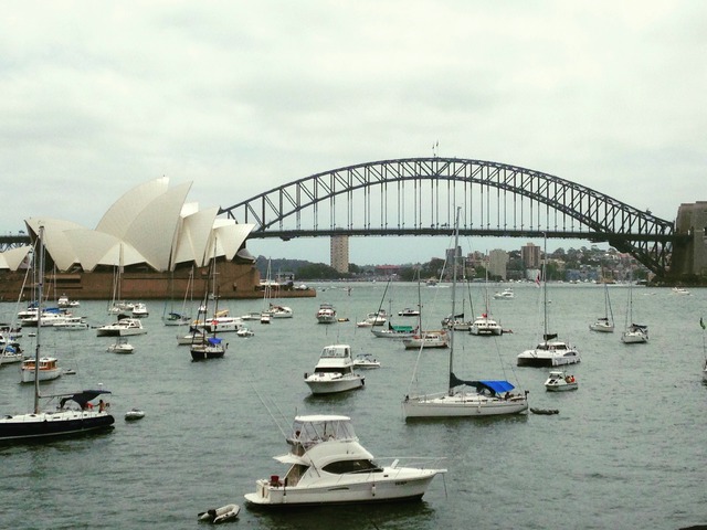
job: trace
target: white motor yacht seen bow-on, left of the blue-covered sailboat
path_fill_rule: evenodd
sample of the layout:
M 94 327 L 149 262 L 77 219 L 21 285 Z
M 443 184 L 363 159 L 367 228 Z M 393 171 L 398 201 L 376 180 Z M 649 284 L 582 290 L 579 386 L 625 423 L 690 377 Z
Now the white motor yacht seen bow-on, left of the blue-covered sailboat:
M 314 373 L 305 373 L 305 383 L 313 394 L 333 394 L 363 386 L 365 378 L 354 370 L 351 347 L 331 344 L 321 350 Z

